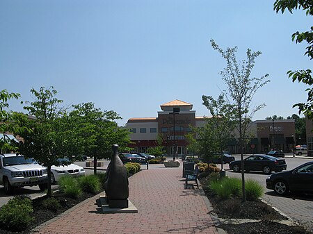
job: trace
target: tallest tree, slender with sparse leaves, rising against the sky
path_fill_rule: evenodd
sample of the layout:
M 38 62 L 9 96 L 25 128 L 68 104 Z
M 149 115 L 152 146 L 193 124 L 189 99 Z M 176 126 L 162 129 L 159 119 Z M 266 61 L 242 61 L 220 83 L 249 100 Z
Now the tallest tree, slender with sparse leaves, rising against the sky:
M 213 49 L 217 50 L 227 62 L 227 67 L 220 72 L 220 75 L 227 85 L 227 90 L 225 90 L 227 101 L 230 102 L 230 105 L 234 106 L 234 122 L 236 123 L 236 128 L 238 128 L 239 132 L 239 146 L 241 151 L 242 199 L 243 201 L 246 201 L 243 161 L 244 140 L 248 139 L 248 137 L 246 137 L 248 135 L 248 124 L 250 123 L 252 116 L 257 110 L 260 110 L 265 106 L 265 104 L 261 104 L 251 109 L 252 98 L 255 93 L 260 87 L 263 87 L 269 82 L 269 80 L 264 81 L 268 74 L 265 74 L 260 78 L 251 77 L 251 72 L 255 65 L 255 58 L 261 54 L 260 51 L 252 52 L 248 49 L 246 52 L 247 60 L 238 62 L 236 59 L 237 47 L 228 48 L 226 51 L 223 51 L 214 40 L 211 40 L 211 46 Z

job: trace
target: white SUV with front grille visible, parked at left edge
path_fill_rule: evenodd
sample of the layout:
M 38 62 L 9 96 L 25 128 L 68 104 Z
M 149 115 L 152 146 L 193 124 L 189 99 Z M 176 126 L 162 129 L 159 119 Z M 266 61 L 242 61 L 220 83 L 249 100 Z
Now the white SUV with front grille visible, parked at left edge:
M 10 194 L 13 187 L 36 186 L 47 188 L 47 169 L 33 158 L 24 158 L 15 153 L 0 154 L 0 185 Z

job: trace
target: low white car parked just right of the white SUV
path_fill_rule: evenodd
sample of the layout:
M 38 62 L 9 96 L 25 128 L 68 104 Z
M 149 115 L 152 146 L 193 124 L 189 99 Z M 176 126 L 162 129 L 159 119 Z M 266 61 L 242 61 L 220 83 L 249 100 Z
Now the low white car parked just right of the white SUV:
M 51 166 L 51 183 L 60 180 L 62 176 L 85 176 L 83 167 L 71 163 L 68 158 L 59 158 L 58 165 Z

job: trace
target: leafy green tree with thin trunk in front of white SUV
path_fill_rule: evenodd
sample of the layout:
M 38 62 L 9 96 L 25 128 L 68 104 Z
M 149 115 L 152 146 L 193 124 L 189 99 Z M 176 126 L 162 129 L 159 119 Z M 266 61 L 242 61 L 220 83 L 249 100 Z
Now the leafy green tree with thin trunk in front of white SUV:
M 65 110 L 59 106 L 63 101 L 56 99 L 54 87 L 40 87 L 39 91 L 32 88 L 31 93 L 35 100 L 26 101 L 30 106 L 24 106 L 24 109 L 34 118 L 26 119 L 22 124 L 33 131 L 21 133 L 24 144 L 20 145 L 20 151 L 47 167 L 47 195 L 50 197 L 51 165 L 58 165 L 58 158 L 75 155 L 79 147 L 72 135 L 68 134 L 68 123 L 63 118 Z

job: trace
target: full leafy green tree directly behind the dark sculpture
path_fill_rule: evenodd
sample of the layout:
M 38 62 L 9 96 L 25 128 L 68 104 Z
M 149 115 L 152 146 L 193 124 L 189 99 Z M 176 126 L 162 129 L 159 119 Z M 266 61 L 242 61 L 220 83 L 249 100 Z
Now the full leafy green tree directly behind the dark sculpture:
M 111 158 L 112 144 L 118 144 L 120 151 L 127 150 L 129 131 L 119 128 L 115 122 L 121 117 L 111 111 L 95 108 L 94 103 L 74 105 L 69 120 L 72 128 L 77 129 L 73 134 L 77 139 L 81 153 L 93 157 L 94 174 L 97 174 L 97 160 Z

